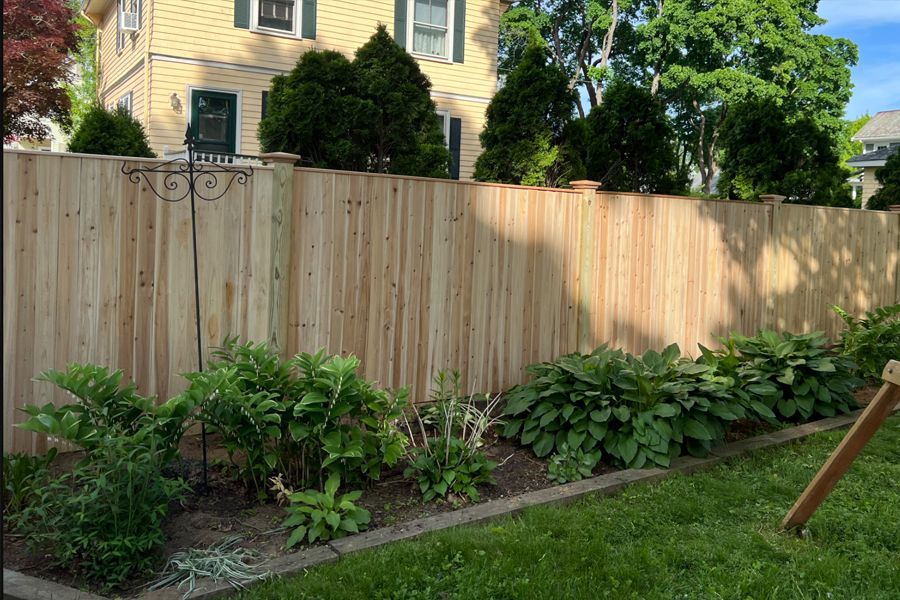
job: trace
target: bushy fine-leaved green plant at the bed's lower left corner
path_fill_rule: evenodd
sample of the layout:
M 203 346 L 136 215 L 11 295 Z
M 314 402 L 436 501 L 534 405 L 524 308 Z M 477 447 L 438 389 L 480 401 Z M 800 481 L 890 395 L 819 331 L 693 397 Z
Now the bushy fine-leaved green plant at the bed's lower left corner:
M 29 546 L 105 589 L 150 571 L 169 504 L 187 490 L 161 475 L 157 442 L 148 429 L 100 438 L 89 461 L 36 490 L 18 527 Z

